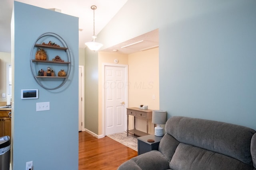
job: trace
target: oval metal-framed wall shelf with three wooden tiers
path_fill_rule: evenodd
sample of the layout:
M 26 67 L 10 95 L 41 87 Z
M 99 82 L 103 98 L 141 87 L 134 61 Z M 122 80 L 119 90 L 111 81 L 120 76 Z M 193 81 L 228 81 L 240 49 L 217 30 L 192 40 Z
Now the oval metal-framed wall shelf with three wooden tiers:
M 55 41 L 61 47 L 40 44 L 46 40 L 47 41 L 50 40 L 53 42 Z M 56 56 L 56 55 L 58 55 L 58 53 L 60 53 L 61 57 L 63 57 L 62 60 L 64 60 L 64 62 L 50 61 L 50 60 L 35 60 L 36 51 L 38 51 L 40 48 L 47 49 L 48 55 L 54 54 L 53 56 Z M 57 50 L 57 51 L 54 51 L 54 50 Z M 61 51 L 58 51 L 58 50 L 61 50 Z M 55 70 L 54 67 L 60 68 L 60 70 L 65 70 L 66 76 L 38 76 L 38 70 L 40 70 L 42 68 L 43 68 L 43 70 L 46 69 L 45 67 L 47 67 L 47 65 L 45 63 L 46 64 L 49 63 L 49 66 L 51 68 L 53 67 L 52 68 L 53 70 Z M 43 33 L 42 35 L 40 35 L 38 37 L 38 39 L 36 39 L 32 49 L 31 49 L 31 53 L 30 53 L 30 68 L 31 68 L 32 74 L 34 76 L 34 79 L 42 88 L 45 88 L 48 90 L 55 90 L 55 89 L 63 86 L 67 82 L 68 77 L 70 75 L 70 71 L 71 71 L 70 67 L 71 67 L 70 50 L 68 49 L 68 45 L 64 41 L 64 39 L 62 39 L 62 37 L 60 37 L 59 35 L 57 35 L 55 33 L 48 32 L 48 33 Z M 56 74 L 58 74 L 58 72 L 56 72 Z M 54 80 L 54 79 L 51 80 L 50 78 L 57 78 L 58 80 Z M 55 82 L 54 85 L 52 85 L 52 82 Z

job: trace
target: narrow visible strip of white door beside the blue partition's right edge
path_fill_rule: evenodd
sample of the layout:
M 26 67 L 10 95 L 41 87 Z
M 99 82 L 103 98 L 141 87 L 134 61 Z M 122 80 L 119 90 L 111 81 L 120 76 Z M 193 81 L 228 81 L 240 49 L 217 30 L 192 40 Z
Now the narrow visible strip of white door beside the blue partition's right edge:
M 78 76 L 78 131 L 84 130 L 84 66 L 79 66 Z

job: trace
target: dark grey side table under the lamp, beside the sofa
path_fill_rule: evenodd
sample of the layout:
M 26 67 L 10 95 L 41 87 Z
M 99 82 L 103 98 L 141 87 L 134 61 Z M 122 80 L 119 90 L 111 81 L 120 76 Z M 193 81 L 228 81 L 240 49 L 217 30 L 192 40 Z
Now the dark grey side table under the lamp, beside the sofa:
M 138 155 L 149 152 L 150 150 L 158 150 L 161 137 L 155 135 L 146 135 L 138 137 Z M 148 139 L 153 139 L 154 142 L 148 142 Z

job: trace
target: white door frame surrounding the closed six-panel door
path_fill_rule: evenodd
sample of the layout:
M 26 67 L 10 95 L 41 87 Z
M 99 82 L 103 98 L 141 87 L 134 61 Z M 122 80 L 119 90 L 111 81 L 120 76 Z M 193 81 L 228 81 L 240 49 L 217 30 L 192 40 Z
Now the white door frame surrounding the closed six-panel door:
M 124 74 L 125 78 L 124 81 L 127 83 L 125 85 L 125 106 L 128 107 L 128 89 L 129 89 L 129 84 L 128 84 L 128 65 L 125 64 L 111 64 L 111 63 L 103 63 L 102 64 L 102 136 L 105 137 L 105 88 L 104 88 L 104 83 L 105 83 L 105 67 L 106 66 L 114 66 L 114 67 L 123 67 L 124 68 Z M 125 114 L 124 116 L 124 123 L 125 127 L 127 127 L 127 116 Z M 126 129 L 124 129 L 126 131 Z

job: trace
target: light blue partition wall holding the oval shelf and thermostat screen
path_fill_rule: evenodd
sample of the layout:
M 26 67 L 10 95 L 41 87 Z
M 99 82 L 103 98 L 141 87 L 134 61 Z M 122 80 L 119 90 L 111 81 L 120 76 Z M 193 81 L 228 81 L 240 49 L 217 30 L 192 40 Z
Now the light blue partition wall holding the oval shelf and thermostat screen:
M 14 23 L 13 170 L 28 161 L 35 170 L 78 169 L 78 18 L 14 2 Z M 70 76 L 57 90 L 39 86 L 30 71 L 30 50 L 45 32 L 60 35 L 71 51 Z M 21 100 L 21 89 L 38 89 L 39 98 Z M 50 102 L 50 110 L 36 111 L 37 102 Z

